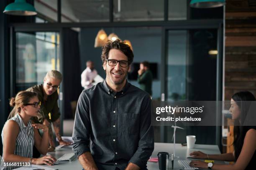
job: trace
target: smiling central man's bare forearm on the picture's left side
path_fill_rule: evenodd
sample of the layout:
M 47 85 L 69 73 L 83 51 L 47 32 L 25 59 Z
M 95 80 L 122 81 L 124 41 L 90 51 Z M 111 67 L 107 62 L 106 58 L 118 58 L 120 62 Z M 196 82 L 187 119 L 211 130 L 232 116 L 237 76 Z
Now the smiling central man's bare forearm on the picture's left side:
M 98 170 L 90 152 L 85 152 L 78 157 L 84 170 Z

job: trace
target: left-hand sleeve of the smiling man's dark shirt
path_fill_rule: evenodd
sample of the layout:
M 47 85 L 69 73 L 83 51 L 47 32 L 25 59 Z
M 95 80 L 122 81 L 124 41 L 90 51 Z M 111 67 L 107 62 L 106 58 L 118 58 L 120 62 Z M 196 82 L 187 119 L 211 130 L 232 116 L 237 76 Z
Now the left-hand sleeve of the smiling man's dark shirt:
M 89 140 L 91 132 L 91 122 L 90 122 L 90 112 L 89 112 L 89 102 L 87 100 L 86 94 L 83 91 L 79 96 L 77 102 L 77 110 L 74 120 L 74 128 L 72 139 L 72 149 L 75 156 L 80 156 L 85 152 L 90 152 Z

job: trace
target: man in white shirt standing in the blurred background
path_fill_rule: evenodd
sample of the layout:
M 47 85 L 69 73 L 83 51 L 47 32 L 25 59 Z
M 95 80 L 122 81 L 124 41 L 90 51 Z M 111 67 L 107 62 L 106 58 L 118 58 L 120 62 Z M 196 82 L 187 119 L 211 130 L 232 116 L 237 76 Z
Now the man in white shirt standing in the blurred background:
M 81 85 L 84 89 L 88 89 L 92 87 L 92 83 L 94 82 L 94 78 L 97 75 L 97 70 L 94 68 L 94 63 L 92 61 L 86 62 L 86 69 L 81 74 Z

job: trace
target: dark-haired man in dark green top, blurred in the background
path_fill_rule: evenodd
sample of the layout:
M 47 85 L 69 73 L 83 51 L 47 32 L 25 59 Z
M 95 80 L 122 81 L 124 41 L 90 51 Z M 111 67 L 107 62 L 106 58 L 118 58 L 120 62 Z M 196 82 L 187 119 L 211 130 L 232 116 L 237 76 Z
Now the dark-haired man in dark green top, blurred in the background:
M 143 61 L 140 64 L 140 70 L 138 70 L 138 83 L 141 85 L 141 89 L 148 92 L 152 96 L 152 81 L 153 75 L 149 70 L 149 62 Z

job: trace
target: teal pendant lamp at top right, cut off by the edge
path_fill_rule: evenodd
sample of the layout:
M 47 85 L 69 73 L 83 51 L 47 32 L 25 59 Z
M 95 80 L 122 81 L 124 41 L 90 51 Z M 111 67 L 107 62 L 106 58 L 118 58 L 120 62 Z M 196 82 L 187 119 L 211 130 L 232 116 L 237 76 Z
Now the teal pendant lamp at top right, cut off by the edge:
M 221 7 L 225 5 L 225 0 L 191 0 L 190 6 L 196 8 Z

